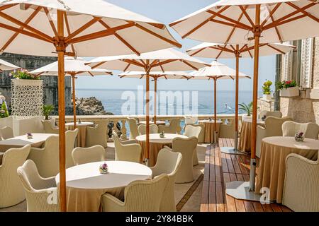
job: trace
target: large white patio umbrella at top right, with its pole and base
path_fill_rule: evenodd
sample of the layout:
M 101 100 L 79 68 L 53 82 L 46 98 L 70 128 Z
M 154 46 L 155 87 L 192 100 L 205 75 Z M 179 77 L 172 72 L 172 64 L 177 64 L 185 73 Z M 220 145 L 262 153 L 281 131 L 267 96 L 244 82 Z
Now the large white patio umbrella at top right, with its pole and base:
M 226 193 L 235 198 L 259 200 L 254 194 L 259 44 L 319 36 L 319 2 L 316 0 L 221 0 L 185 16 L 170 26 L 182 37 L 201 42 L 249 44 L 254 40 L 254 85 L 250 183 L 232 182 Z

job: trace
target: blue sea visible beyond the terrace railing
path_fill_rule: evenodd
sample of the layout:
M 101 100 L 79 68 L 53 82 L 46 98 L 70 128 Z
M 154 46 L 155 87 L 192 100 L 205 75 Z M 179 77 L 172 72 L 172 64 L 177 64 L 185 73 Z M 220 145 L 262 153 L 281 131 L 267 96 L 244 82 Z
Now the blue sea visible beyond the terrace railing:
M 212 90 L 186 90 L 177 91 L 178 93 L 174 93 L 176 91 L 172 90 L 172 93 L 165 92 L 167 92 L 167 90 L 159 90 L 157 92 L 158 114 L 191 114 L 193 111 L 198 114 L 213 114 L 214 100 Z M 126 109 L 128 109 L 127 105 L 130 106 L 130 112 L 132 114 L 140 114 L 142 105 L 139 105 L 138 100 L 142 100 L 143 93 L 140 93 L 139 99 L 138 93 L 138 90 L 76 90 L 77 97 L 96 97 L 98 100 L 101 100 L 106 112 L 111 112 L 116 115 L 128 114 L 128 112 L 125 112 Z M 174 101 L 169 102 L 165 100 L 165 98 L 161 96 L 162 93 L 164 93 L 164 97 L 166 97 L 165 95 L 169 97 L 175 95 Z M 176 98 L 176 96 L 179 96 L 179 98 Z M 239 102 L 246 104 L 252 102 L 252 91 L 240 91 Z M 123 106 L 125 109 L 124 111 Z M 234 91 L 218 91 L 217 112 L 218 114 L 235 113 Z

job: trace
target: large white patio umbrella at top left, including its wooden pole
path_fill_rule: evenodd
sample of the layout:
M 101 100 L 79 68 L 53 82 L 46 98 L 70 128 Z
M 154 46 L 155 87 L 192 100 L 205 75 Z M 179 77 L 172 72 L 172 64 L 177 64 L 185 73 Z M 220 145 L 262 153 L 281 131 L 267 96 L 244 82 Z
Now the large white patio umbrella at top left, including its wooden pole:
M 60 207 L 65 211 L 65 55 L 140 54 L 181 44 L 162 23 L 102 0 L 2 0 L 0 32 L 0 52 L 58 57 Z

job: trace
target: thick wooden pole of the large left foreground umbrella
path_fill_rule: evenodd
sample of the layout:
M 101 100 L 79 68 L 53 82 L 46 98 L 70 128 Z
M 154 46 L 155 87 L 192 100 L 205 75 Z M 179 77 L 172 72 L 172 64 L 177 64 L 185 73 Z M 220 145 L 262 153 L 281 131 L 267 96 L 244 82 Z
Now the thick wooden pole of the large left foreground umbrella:
M 59 147 L 60 147 L 60 210 L 67 211 L 65 177 L 65 32 L 64 13 L 57 11 L 57 58 L 58 58 L 58 101 L 59 101 Z

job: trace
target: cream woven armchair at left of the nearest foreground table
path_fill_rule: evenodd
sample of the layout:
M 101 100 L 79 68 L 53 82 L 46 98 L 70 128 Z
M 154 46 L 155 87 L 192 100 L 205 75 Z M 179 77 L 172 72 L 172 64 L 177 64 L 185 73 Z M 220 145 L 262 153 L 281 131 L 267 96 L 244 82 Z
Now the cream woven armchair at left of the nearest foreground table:
M 55 177 L 40 177 L 32 160 L 27 160 L 17 171 L 26 194 L 28 212 L 60 211 Z

